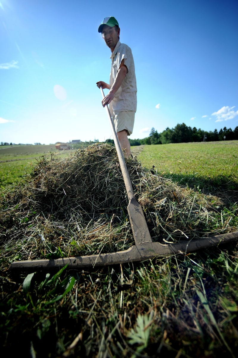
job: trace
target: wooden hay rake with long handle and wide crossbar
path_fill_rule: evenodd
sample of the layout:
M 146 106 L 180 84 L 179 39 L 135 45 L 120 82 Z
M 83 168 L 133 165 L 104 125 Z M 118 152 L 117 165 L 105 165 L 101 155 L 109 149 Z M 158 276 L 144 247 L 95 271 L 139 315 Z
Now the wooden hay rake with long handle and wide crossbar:
M 102 87 L 101 87 L 101 92 L 104 98 L 105 96 Z M 152 242 L 143 210 L 134 196 L 125 159 L 107 105 L 106 105 L 106 110 L 107 110 L 108 118 L 110 120 L 113 139 L 115 142 L 116 151 L 123 175 L 123 180 L 125 183 L 125 187 L 129 199 L 127 211 L 130 218 L 135 245 L 132 245 L 128 250 L 125 251 L 104 253 L 99 255 L 76 256 L 76 257 L 58 258 L 58 259 L 50 259 L 50 260 L 43 259 L 43 260 L 15 261 L 11 263 L 10 269 L 49 270 L 49 269 L 60 269 L 65 265 L 68 265 L 67 267 L 71 269 L 79 269 L 82 267 L 116 265 L 118 263 L 145 261 L 145 260 L 153 259 L 155 257 L 176 255 L 178 253 L 186 254 L 189 252 L 201 250 L 211 246 L 218 246 L 220 244 L 232 242 L 238 239 L 238 231 L 236 231 L 223 235 L 203 237 L 198 240 L 190 240 L 188 242 L 182 242 L 182 243 L 162 244 L 159 242 Z

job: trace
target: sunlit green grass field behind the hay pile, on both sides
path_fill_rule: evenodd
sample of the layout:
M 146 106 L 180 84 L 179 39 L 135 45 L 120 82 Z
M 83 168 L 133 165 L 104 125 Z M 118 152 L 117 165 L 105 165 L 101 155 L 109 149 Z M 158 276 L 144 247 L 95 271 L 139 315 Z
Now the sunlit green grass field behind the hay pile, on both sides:
M 200 189 L 225 185 L 237 190 L 238 141 L 132 146 L 131 150 L 146 168 L 154 165 L 158 174 L 179 184 Z M 55 152 L 59 157 L 69 153 L 54 145 L 0 147 L 1 188 L 18 183 L 40 156 Z

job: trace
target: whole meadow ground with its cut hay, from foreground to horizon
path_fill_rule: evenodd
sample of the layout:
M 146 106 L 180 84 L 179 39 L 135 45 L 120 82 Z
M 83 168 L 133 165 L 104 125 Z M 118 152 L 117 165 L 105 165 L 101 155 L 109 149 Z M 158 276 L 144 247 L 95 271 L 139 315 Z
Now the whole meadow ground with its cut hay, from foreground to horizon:
M 131 149 L 133 159 L 126 163 L 153 240 L 173 243 L 238 231 L 238 141 Z M 76 171 L 77 161 L 80 170 L 86 169 L 78 171 L 84 173 L 79 175 L 84 175 L 82 183 L 77 173 L 67 175 L 67 170 Z M 15 260 L 89 255 L 132 245 L 116 161 L 110 146 L 103 144 L 78 151 L 59 151 L 54 145 L 0 147 L 3 356 L 236 357 L 238 240 L 144 262 L 49 272 L 9 270 Z M 87 213 L 81 202 L 90 198 L 94 203 L 96 197 L 87 193 L 87 199 L 80 198 L 77 183 L 91 182 L 95 190 L 98 185 L 100 217 L 95 214 L 84 222 Z M 64 196 L 57 196 L 59 187 Z M 115 213 L 99 207 L 104 190 L 106 197 L 115 198 L 110 204 Z M 80 215 L 70 198 L 74 193 Z M 54 204 L 62 209 L 60 223 Z

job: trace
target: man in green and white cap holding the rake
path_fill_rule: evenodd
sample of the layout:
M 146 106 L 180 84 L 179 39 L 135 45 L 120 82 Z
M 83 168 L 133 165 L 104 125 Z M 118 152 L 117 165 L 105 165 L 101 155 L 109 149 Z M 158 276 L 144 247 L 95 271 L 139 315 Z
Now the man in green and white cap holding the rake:
M 109 105 L 117 137 L 125 156 L 131 156 L 128 136 L 132 134 L 137 105 L 135 65 L 130 47 L 119 41 L 120 28 L 113 16 L 105 18 L 98 28 L 111 49 L 110 84 L 98 81 L 97 86 L 109 89 L 102 105 Z

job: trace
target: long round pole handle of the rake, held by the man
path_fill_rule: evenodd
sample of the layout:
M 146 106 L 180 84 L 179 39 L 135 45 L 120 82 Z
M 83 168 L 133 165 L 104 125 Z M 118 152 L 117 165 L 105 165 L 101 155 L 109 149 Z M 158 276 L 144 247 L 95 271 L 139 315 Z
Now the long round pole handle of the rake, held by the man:
M 105 95 L 104 95 L 102 86 L 100 86 L 100 89 L 101 89 L 102 97 L 104 98 Z M 119 160 L 119 163 L 120 163 L 120 166 L 121 166 L 122 176 L 123 176 L 124 183 L 125 183 L 125 186 L 126 186 L 126 192 L 127 192 L 129 200 L 131 200 L 132 198 L 134 198 L 134 192 L 133 192 L 130 176 L 129 176 L 129 173 L 128 173 L 128 170 L 127 170 L 127 167 L 126 167 L 126 162 L 125 162 L 125 159 L 124 159 L 124 155 L 122 153 L 122 149 L 121 149 L 118 137 L 117 137 L 115 125 L 114 125 L 111 113 L 109 111 L 108 105 L 105 105 L 105 107 L 106 107 L 106 110 L 107 110 L 107 115 L 108 115 L 108 118 L 109 118 L 111 130 L 112 130 L 112 136 L 113 136 L 113 140 L 114 140 L 114 143 L 115 143 L 118 160 Z

